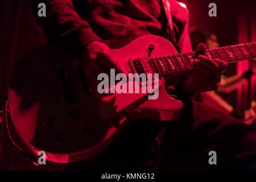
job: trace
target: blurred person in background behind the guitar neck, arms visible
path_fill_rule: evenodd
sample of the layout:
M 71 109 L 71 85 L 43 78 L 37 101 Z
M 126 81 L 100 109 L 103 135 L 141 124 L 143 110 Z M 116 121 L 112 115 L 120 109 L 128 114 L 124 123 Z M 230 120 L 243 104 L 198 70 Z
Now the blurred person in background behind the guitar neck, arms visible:
M 191 44 L 193 51 L 196 50 L 196 46 L 199 43 L 206 44 L 207 48 L 217 48 L 220 47 L 218 43 L 217 36 L 204 28 L 194 28 L 190 33 Z M 250 81 L 250 78 L 254 73 L 256 73 L 256 59 L 249 60 L 249 71 L 243 73 L 243 75 L 233 75 L 230 77 L 226 77 L 225 75 L 221 76 L 221 82 L 218 84 L 217 90 L 213 90 L 210 92 L 201 92 L 197 97 L 197 101 L 204 102 L 207 105 L 213 106 L 214 108 L 224 111 L 226 114 L 230 114 L 235 118 L 244 119 L 246 123 L 253 123 L 256 114 L 254 111 L 254 103 L 252 102 L 252 106 L 250 109 L 245 111 L 238 111 L 234 109 L 234 106 L 230 105 L 226 102 L 221 96 L 218 95 L 218 92 L 222 93 L 230 93 L 233 92 L 241 86 L 245 84 L 247 80 Z

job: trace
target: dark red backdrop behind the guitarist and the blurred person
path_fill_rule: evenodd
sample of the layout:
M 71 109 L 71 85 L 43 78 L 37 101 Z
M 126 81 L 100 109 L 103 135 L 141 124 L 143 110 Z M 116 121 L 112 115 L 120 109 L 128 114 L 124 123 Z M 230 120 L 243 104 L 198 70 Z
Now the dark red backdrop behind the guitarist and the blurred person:
M 256 42 L 256 1 L 255 0 L 187 0 L 180 1 L 187 5 L 190 27 L 205 27 L 213 30 L 221 46 L 238 43 Z M 209 3 L 217 4 L 217 17 L 208 16 Z M 30 13 L 31 0 L 0 1 L 0 102 L 6 95 L 11 72 L 20 57 L 31 49 L 46 43 L 42 32 L 33 23 Z M 248 63 L 230 64 L 226 75 L 242 74 L 247 71 Z M 22 76 L 22 75 L 21 75 Z M 248 85 L 242 86 L 231 94 L 233 106 L 245 110 L 248 100 L 254 98 L 255 78 L 251 79 L 250 94 Z M 248 96 L 249 95 L 249 96 Z M 2 103 L 0 103 L 2 104 Z M 34 169 L 19 154 L 16 154 L 0 125 L 0 169 Z M 48 166 L 48 165 L 47 165 Z M 56 166 L 61 169 L 61 166 Z

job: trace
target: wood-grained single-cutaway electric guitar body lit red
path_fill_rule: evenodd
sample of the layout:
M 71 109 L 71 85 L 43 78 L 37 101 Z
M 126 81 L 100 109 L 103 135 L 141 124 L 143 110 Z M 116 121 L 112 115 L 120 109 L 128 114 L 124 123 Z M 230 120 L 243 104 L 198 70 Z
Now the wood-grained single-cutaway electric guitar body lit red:
M 154 51 L 148 44 L 154 43 Z M 168 40 L 142 36 L 111 51 L 129 73 L 130 57 L 175 54 Z M 45 151 L 47 160 L 78 162 L 104 151 L 129 122 L 138 118 L 171 121 L 183 104 L 171 98 L 159 79 L 159 97 L 148 94 L 108 94 L 98 98 L 79 62 L 54 44 L 45 44 L 24 57 L 15 68 L 9 87 L 11 119 L 20 139 L 36 156 Z M 96 78 L 93 78 L 96 79 Z M 138 121 L 138 120 L 137 120 Z

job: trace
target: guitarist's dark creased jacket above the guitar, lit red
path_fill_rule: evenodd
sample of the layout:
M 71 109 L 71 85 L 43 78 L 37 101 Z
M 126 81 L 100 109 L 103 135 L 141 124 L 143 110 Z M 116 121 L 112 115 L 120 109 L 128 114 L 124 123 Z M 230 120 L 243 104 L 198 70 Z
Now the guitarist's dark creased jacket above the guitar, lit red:
M 63 46 L 79 53 L 88 43 L 98 40 L 110 48 L 120 48 L 143 35 L 159 35 L 191 51 L 188 35 L 188 11 L 175 0 L 170 2 L 175 40 L 166 28 L 162 0 L 36 0 L 47 5 L 47 16 L 38 18 L 49 42 L 60 40 Z M 37 3 L 38 2 L 38 3 Z

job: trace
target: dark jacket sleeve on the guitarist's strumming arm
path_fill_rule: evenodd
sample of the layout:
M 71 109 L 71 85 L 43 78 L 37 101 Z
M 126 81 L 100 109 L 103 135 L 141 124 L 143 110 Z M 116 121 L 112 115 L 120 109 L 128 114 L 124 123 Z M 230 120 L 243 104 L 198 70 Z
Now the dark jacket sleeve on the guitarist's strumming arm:
M 74 10 L 72 0 L 34 0 L 35 9 L 40 2 L 46 4 L 46 17 L 39 18 L 33 13 L 36 22 L 42 24 L 48 42 L 59 40 L 61 44 L 76 51 L 81 51 L 88 43 L 102 40 L 93 33 L 89 23 L 82 20 Z M 76 52 L 79 53 L 79 52 Z

